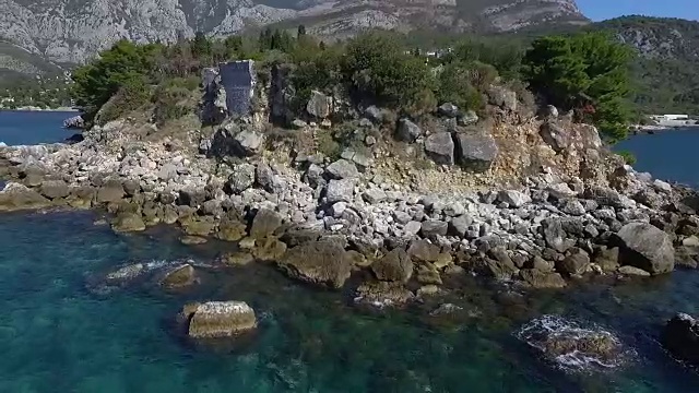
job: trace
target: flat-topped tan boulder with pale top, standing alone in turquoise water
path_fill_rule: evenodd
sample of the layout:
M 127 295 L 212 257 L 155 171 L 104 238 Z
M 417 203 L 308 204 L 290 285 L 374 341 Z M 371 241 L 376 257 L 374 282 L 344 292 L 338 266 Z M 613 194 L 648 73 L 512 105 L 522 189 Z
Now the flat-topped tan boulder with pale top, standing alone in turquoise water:
M 232 337 L 257 327 L 254 310 L 242 301 L 208 301 L 187 305 L 182 314 L 189 321 L 192 338 Z

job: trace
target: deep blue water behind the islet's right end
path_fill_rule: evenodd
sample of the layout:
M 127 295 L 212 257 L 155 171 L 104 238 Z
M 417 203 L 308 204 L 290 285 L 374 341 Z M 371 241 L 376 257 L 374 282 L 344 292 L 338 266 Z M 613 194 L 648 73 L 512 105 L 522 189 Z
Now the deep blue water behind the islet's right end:
M 699 188 L 697 146 L 699 129 L 694 128 L 635 135 L 618 143 L 615 150 L 633 153 L 637 158 L 633 168 L 637 170 Z

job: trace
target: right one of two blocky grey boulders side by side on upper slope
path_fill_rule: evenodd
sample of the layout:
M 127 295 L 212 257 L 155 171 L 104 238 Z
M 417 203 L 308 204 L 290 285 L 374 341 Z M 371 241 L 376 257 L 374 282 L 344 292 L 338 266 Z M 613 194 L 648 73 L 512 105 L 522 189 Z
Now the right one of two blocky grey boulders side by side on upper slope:
M 486 171 L 498 156 L 498 145 L 489 134 L 455 133 L 455 160 L 472 171 Z

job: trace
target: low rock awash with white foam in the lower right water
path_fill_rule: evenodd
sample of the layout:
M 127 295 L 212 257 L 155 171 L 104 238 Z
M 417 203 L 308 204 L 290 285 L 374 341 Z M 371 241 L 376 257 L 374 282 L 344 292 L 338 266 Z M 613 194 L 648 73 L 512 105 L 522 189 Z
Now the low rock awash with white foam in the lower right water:
M 632 354 L 613 333 L 599 326 L 583 327 L 556 315 L 544 315 L 525 324 L 518 338 L 565 370 L 616 368 Z

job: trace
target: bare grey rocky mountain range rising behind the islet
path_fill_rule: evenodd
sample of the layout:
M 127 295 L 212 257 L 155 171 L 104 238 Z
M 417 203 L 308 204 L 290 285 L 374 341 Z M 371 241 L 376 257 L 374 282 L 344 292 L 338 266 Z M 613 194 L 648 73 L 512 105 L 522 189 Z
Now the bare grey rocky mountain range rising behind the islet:
M 585 21 L 574 0 L 0 0 L 0 39 L 59 63 L 83 62 L 119 38 L 171 41 L 198 31 L 225 36 L 282 21 L 323 36 Z

